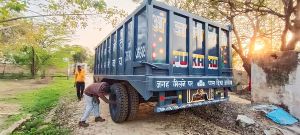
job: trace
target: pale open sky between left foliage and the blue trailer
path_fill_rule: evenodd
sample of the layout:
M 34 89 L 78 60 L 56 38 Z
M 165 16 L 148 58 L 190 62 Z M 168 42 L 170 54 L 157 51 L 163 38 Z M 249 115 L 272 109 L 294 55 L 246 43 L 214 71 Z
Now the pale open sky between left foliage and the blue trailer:
M 125 10 L 128 14 L 133 12 L 138 3 L 132 0 L 105 0 L 107 7 L 117 7 L 118 9 Z M 95 20 L 95 19 L 92 19 Z M 71 36 L 69 44 L 82 45 L 89 48 L 91 51 L 99 44 L 114 28 L 105 22 L 95 22 L 89 20 L 86 28 L 77 28 L 75 33 Z M 101 30 L 99 30 L 99 25 Z

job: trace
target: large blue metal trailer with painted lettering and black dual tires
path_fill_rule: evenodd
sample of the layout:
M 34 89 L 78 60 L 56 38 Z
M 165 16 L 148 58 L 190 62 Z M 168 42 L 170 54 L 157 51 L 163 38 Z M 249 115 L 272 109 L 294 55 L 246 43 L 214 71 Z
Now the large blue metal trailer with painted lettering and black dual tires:
M 144 1 L 95 49 L 94 82 L 111 85 L 110 114 L 132 120 L 140 103 L 166 112 L 228 101 L 230 26 Z

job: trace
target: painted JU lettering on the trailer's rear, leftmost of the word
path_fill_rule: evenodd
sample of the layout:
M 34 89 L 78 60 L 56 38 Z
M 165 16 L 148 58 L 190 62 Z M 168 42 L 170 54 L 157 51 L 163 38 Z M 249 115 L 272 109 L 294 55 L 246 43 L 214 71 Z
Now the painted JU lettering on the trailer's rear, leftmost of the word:
M 186 68 L 188 66 L 187 56 L 187 52 L 173 51 L 173 67 Z

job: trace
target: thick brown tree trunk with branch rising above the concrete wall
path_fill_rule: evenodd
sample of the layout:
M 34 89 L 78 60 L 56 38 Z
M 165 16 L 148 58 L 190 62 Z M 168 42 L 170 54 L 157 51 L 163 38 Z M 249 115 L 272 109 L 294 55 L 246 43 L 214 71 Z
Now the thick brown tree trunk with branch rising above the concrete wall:
M 283 5 L 276 8 L 273 5 L 266 4 L 267 0 L 261 0 L 257 4 L 249 1 L 246 10 L 262 14 L 274 15 L 284 22 L 284 29 L 281 35 L 281 50 L 294 50 L 297 42 L 300 41 L 300 0 L 276 0 L 277 4 Z M 291 40 L 287 41 L 287 33 L 292 33 Z

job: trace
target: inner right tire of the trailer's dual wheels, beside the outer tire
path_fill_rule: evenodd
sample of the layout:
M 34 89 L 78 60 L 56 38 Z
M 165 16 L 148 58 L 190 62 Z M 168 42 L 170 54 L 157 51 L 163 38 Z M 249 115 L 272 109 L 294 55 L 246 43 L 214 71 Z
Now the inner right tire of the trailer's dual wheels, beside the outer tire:
M 128 116 L 126 120 L 134 120 L 139 111 L 139 93 L 131 86 L 127 86 L 128 91 Z

